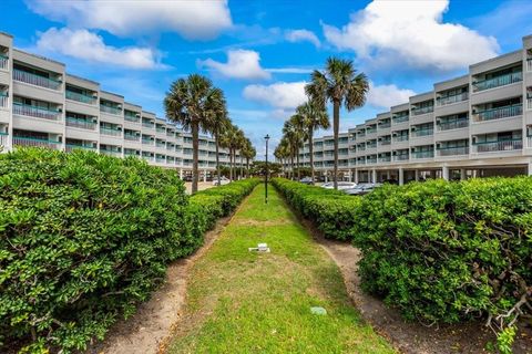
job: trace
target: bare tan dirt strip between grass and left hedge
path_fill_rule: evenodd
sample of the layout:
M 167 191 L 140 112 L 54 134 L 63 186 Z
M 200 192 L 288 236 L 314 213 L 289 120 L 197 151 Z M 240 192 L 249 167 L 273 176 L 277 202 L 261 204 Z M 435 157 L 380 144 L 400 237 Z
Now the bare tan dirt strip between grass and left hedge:
M 163 353 L 168 335 L 182 316 L 191 266 L 202 257 L 222 233 L 232 217 L 218 220 L 205 235 L 204 244 L 192 256 L 168 266 L 166 281 L 136 313 L 119 321 L 103 342 L 89 347 L 91 354 L 155 354 Z

